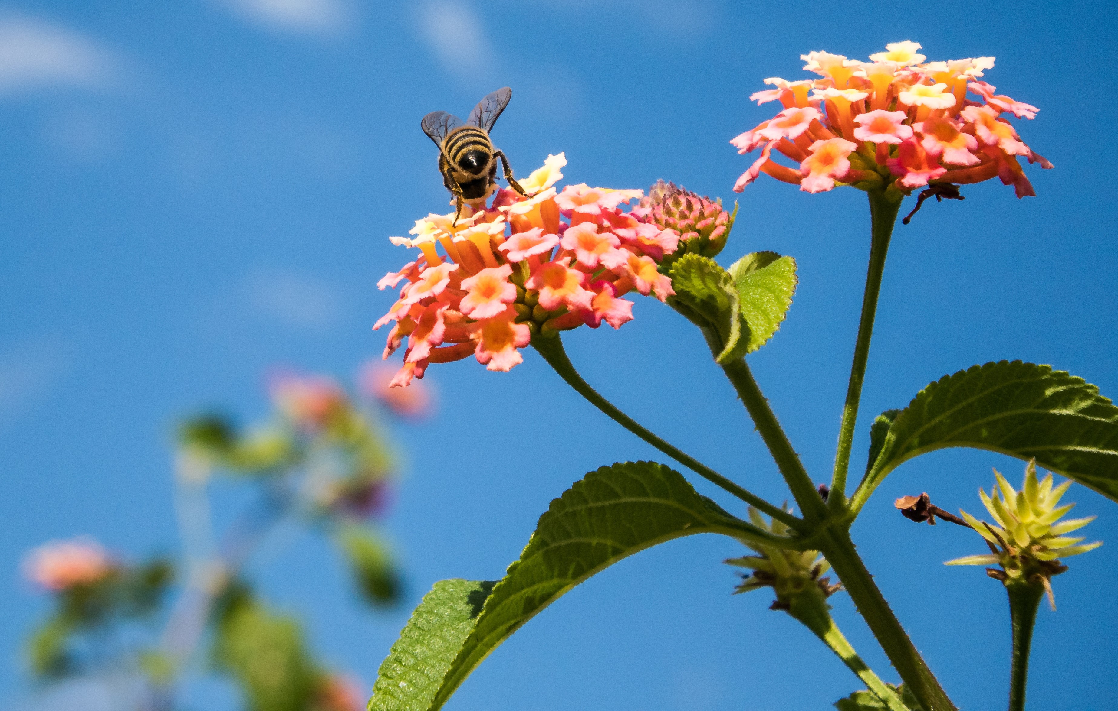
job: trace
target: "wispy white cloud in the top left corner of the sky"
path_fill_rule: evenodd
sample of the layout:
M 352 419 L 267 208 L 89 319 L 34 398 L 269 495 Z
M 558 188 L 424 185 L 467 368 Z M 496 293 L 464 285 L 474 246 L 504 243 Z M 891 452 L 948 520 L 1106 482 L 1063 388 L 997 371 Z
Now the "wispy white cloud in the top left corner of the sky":
M 103 88 L 116 73 L 113 52 L 92 39 L 29 17 L 0 17 L 0 94 L 53 86 Z

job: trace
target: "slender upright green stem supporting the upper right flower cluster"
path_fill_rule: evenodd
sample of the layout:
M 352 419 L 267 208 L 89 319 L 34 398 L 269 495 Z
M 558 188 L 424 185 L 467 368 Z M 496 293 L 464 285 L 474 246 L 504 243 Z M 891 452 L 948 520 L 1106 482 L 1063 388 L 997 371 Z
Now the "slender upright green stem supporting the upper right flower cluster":
M 858 405 L 862 398 L 862 382 L 865 364 L 870 357 L 870 339 L 873 337 L 873 318 L 878 313 L 878 294 L 881 291 L 881 275 L 885 269 L 889 239 L 901 208 L 901 196 L 883 190 L 871 190 L 870 195 L 870 266 L 865 275 L 865 294 L 862 296 L 862 318 L 858 324 L 858 342 L 854 344 L 854 362 L 850 366 L 850 383 L 846 386 L 846 404 L 842 411 L 842 426 L 839 430 L 839 451 L 835 453 L 835 470 L 831 479 L 828 501 L 836 510 L 845 505 L 846 471 L 850 468 L 850 450 L 854 442 L 854 423 Z

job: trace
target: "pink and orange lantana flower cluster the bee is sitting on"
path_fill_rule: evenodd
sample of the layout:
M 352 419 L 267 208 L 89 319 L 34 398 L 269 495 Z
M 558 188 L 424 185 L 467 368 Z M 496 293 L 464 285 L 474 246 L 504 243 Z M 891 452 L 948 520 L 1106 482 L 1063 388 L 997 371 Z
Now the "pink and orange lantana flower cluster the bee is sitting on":
M 407 342 L 392 385 L 471 355 L 490 371 L 508 371 L 536 333 L 603 321 L 619 328 L 633 319 L 633 301 L 622 298 L 629 291 L 661 301 L 674 294 L 660 265 L 676 251 L 680 233 L 648 219 L 646 208 L 628 209 L 644 191 L 558 191 L 566 164 L 561 153 L 548 156 L 520 181 L 527 198 L 499 190 L 492 205 L 466 206 L 456 223 L 453 213 L 430 214 L 416 221 L 414 237 L 391 238 L 420 251 L 377 285 L 405 282 L 373 326 L 395 321 L 385 358 Z

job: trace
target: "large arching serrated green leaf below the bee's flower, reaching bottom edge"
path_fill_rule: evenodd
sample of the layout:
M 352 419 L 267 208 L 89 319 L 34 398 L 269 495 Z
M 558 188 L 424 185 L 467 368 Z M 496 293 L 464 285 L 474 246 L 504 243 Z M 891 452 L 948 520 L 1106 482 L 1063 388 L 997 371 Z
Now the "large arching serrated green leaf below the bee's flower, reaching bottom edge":
M 436 586 L 424 598 L 380 667 L 369 709 L 439 709 L 509 635 L 595 573 L 666 540 L 692 534 L 738 537 L 747 526 L 662 464 L 626 462 L 590 472 L 551 502 L 520 560 L 491 595 L 468 587 L 485 584 L 447 580 L 458 587 Z M 470 595 L 484 598 L 480 615 Z M 454 644 L 461 650 L 449 663 Z M 442 683 L 433 692 L 436 679 Z

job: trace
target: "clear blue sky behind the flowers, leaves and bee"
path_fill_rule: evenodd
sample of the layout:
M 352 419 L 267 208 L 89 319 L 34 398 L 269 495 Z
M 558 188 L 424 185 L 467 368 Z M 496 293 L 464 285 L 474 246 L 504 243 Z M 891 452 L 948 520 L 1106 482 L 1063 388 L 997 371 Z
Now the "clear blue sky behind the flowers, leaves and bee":
M 389 244 L 445 211 L 429 111 L 463 114 L 509 85 L 493 133 L 518 173 L 565 151 L 571 183 L 659 177 L 733 200 L 750 158 L 727 143 L 770 115 L 748 95 L 799 78 L 798 57 L 851 57 L 913 39 L 930 59 L 995 56 L 986 80 L 1041 107 L 1018 128 L 1054 164 L 1038 198 L 993 182 L 898 225 L 852 467 L 873 414 L 975 363 L 1050 363 L 1118 393 L 1115 96 L 1107 4 L 714 1 L 414 2 L 186 0 L 0 3 L 0 704 L 27 691 L 19 645 L 44 598 L 22 553 L 97 536 L 126 555 L 172 550 L 170 431 L 219 404 L 266 412 L 277 364 L 349 377 L 382 348 L 375 288 L 407 256 Z M 1108 177 L 1110 175 L 1110 177 Z M 722 261 L 794 256 L 788 320 L 750 356 L 809 471 L 837 434 L 869 250 L 862 193 L 807 195 L 764 179 L 738 196 Z M 754 491 L 787 494 L 699 334 L 653 300 L 619 332 L 580 329 L 587 379 L 652 430 Z M 407 609 L 362 611 L 333 553 L 282 532 L 263 588 L 302 615 L 323 659 L 367 684 L 434 580 L 496 578 L 548 501 L 590 469 L 657 459 L 581 402 L 534 354 L 509 374 L 433 366 L 440 411 L 398 427 L 407 474 L 387 525 L 407 566 Z M 476 413 L 486 413 L 479 417 Z M 1008 615 L 978 568 L 940 563 L 982 544 L 916 526 L 893 498 L 928 491 L 978 508 L 991 467 L 939 452 L 901 467 L 854 529 L 870 570 L 963 708 L 1004 703 Z M 823 479 L 822 473 L 817 473 Z M 697 487 L 737 510 L 704 482 Z M 1116 691 L 1118 510 L 1083 488 L 1077 513 L 1108 541 L 1055 579 L 1042 609 L 1035 708 L 1108 708 Z M 499 648 L 452 710 L 824 709 L 859 688 L 765 593 L 731 597 L 729 539 L 676 541 L 593 578 Z M 854 614 L 835 616 L 882 675 Z M 192 693 L 236 708 L 229 690 Z M 19 708 L 18 705 L 13 708 Z

